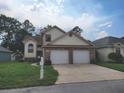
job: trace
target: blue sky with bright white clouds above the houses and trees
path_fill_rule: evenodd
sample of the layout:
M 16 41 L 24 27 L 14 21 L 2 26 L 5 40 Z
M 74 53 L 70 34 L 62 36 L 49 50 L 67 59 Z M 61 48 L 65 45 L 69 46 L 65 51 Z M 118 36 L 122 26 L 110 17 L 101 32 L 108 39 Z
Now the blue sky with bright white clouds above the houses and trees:
M 0 13 L 34 26 L 57 25 L 65 31 L 74 26 L 93 41 L 105 36 L 124 36 L 124 0 L 0 0 Z

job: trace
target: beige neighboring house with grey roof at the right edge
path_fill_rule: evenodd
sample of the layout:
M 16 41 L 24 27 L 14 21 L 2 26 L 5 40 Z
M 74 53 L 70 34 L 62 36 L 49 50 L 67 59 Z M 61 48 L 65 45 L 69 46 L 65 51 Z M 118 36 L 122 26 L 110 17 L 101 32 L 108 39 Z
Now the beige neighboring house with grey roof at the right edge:
M 96 46 L 97 57 L 100 61 L 109 61 L 108 55 L 112 52 L 121 53 L 124 57 L 124 39 L 105 37 L 92 42 Z

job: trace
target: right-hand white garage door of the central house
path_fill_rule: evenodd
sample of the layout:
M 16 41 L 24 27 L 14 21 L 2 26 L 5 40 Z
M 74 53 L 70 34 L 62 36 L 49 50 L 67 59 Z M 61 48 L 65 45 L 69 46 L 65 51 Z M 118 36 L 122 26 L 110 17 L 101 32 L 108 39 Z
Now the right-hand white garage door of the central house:
M 73 51 L 73 63 L 90 63 L 90 56 L 88 50 L 74 50 Z

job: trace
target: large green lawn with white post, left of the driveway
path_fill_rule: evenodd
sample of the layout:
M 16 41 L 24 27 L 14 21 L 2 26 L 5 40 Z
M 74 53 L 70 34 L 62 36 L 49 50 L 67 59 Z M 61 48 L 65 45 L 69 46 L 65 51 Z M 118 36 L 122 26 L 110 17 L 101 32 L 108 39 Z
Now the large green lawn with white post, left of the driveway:
M 40 66 L 9 62 L 0 64 L 0 89 L 55 84 L 58 72 L 51 65 L 44 67 L 44 79 L 40 80 Z

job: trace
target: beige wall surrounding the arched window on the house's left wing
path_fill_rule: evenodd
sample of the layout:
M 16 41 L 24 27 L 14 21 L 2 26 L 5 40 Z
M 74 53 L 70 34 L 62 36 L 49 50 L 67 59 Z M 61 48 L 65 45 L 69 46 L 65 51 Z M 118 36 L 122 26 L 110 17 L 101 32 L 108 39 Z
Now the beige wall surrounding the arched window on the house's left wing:
M 28 45 L 33 44 L 34 45 L 34 52 L 33 53 L 28 53 Z M 24 44 L 24 57 L 25 58 L 35 58 L 36 57 L 36 49 L 37 49 L 37 44 L 35 41 L 29 40 L 25 42 Z

